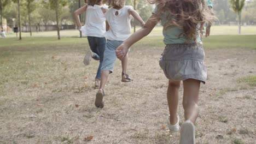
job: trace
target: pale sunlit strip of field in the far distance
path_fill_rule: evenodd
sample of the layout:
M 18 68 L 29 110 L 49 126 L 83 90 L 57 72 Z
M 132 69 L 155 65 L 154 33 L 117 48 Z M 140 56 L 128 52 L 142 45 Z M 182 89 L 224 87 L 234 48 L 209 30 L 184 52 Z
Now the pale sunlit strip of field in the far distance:
M 139 27 L 137 27 L 139 29 Z M 79 37 L 79 32 L 77 30 L 65 30 L 60 31 L 62 37 Z M 212 26 L 211 35 L 237 35 L 237 26 Z M 242 35 L 256 35 L 256 26 L 242 26 Z M 33 32 L 33 37 L 55 37 L 57 35 L 56 31 L 49 32 Z M 158 26 L 153 29 L 149 35 L 162 35 L 162 27 Z M 8 33 L 7 37 L 16 37 L 15 33 Z M 19 37 L 19 34 L 18 34 Z M 30 33 L 22 33 L 22 37 L 30 37 Z

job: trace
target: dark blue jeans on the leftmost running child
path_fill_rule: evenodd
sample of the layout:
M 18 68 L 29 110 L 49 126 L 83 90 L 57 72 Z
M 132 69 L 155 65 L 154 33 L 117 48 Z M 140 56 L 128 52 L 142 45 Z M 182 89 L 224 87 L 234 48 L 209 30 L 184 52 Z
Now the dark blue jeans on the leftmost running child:
M 98 70 L 95 79 L 101 79 L 101 65 L 104 57 L 106 39 L 99 37 L 87 37 L 87 39 L 90 45 L 90 49 L 94 53 L 94 56 L 92 56 L 92 58 L 97 61 L 100 60 L 100 65 L 98 65 Z

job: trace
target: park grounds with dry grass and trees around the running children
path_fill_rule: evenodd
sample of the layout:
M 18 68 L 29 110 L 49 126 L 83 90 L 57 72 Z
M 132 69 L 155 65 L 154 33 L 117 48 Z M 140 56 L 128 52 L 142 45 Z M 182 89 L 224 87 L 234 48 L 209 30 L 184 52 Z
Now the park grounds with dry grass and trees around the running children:
M 73 19 L 79 1 L 0 2 L 7 35 L 0 38 L 0 143 L 178 143 L 179 134 L 166 128 L 167 79 L 158 64 L 164 49 L 161 26 L 132 46 L 133 82 L 121 82 L 116 62 L 105 107 L 97 109 L 98 62 L 83 65 L 89 45 Z M 197 143 L 255 143 L 256 1 L 241 2 L 239 33 L 239 13 L 231 1 L 213 1 L 218 21 L 203 38 L 208 78 L 200 89 Z M 147 1 L 126 4 L 136 4 L 144 21 L 153 10 Z M 181 123 L 182 94 L 181 86 Z

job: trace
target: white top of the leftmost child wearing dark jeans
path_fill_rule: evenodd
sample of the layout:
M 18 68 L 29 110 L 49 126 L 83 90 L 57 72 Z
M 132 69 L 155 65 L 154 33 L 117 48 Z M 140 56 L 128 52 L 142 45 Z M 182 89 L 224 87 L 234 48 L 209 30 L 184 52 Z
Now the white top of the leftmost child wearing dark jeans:
M 84 36 L 104 37 L 106 33 L 106 17 L 102 11 L 102 5 L 88 5 L 85 16 L 85 25 L 80 28 Z M 106 7 L 103 7 L 107 9 Z

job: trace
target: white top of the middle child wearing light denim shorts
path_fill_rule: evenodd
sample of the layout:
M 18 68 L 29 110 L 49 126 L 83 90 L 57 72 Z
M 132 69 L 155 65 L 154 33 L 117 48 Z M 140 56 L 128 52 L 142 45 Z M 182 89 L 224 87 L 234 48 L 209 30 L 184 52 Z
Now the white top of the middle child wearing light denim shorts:
M 108 40 L 124 41 L 131 35 L 131 18 L 128 13 L 129 9 L 133 9 L 130 5 L 125 5 L 121 9 L 110 8 L 106 12 L 106 19 L 109 24 L 109 30 L 104 34 Z M 118 11 L 118 15 L 115 13 Z

